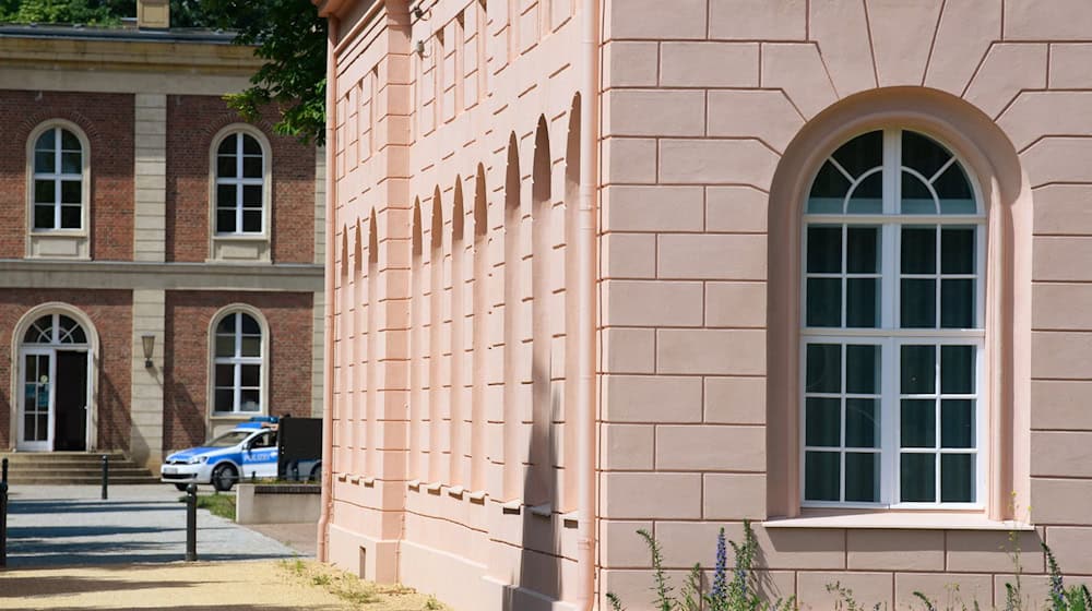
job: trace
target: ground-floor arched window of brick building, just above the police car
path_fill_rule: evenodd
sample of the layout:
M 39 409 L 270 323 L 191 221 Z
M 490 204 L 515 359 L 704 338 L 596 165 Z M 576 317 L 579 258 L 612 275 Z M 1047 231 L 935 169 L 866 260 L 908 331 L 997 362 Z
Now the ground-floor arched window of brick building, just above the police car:
M 216 323 L 213 411 L 257 414 L 265 410 L 265 339 L 262 323 L 248 312 L 230 311 Z

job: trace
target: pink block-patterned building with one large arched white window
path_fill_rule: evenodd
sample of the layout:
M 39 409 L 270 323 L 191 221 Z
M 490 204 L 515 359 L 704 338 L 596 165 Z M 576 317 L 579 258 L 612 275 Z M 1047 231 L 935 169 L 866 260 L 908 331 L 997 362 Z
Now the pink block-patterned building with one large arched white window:
M 1092 578 L 1092 5 L 325 0 L 320 552 L 460 610 Z M 1013 543 L 1013 539 L 1018 543 Z

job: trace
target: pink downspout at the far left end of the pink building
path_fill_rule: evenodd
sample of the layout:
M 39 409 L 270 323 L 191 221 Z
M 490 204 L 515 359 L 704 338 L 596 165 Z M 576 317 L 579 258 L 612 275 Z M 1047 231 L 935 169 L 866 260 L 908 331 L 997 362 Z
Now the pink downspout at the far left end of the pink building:
M 330 561 L 330 516 L 333 514 L 333 416 L 332 407 L 334 399 L 333 372 L 334 372 L 334 248 L 331 239 L 334 235 L 334 74 L 337 68 L 334 61 L 334 40 L 337 38 L 337 17 L 333 14 L 327 17 L 327 265 L 325 265 L 325 293 L 327 302 L 322 315 L 322 511 L 319 515 L 319 547 L 318 559 L 320 562 Z

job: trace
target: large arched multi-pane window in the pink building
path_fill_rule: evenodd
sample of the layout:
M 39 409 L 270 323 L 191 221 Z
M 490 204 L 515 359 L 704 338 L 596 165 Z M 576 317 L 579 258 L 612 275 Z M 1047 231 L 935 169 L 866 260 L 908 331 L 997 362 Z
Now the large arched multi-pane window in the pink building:
M 907 130 L 838 147 L 804 214 L 805 506 L 986 499 L 985 236 L 960 160 Z

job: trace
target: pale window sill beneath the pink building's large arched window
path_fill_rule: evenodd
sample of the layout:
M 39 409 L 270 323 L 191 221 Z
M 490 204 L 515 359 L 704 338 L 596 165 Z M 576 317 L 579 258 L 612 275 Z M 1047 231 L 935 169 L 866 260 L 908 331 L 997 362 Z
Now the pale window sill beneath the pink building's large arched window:
M 972 513 L 950 512 L 869 512 L 838 513 L 805 512 L 797 517 L 774 518 L 762 523 L 763 528 L 847 528 L 889 530 L 1034 530 L 1031 524 L 1016 520 L 993 520 Z

